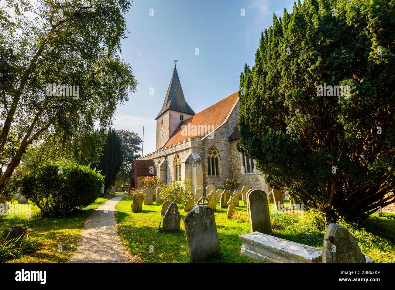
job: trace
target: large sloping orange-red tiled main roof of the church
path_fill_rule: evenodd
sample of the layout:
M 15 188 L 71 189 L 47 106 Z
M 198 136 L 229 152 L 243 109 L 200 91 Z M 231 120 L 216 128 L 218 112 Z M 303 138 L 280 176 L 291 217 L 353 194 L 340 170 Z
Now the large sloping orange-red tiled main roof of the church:
M 182 121 L 178 125 L 177 129 L 175 129 L 173 135 L 171 135 L 170 139 L 162 148 L 177 144 L 178 142 L 182 142 L 184 140 L 188 140 L 189 138 L 203 138 L 203 134 L 197 135 L 198 132 L 197 134 L 194 134 L 195 132 L 192 125 L 195 125 L 196 127 L 198 125 L 207 125 L 207 127 L 210 126 L 210 128 L 212 128 L 213 125 L 214 129 L 218 128 L 225 122 L 226 118 L 228 118 L 229 113 L 235 106 L 235 103 L 238 99 L 239 92 L 235 92 L 234 94 L 229 95 L 228 97 L 212 105 L 211 107 L 208 107 L 207 109 L 204 109 L 198 114 Z M 182 128 L 182 125 L 188 126 L 188 123 L 191 123 L 190 132 L 188 132 L 188 134 L 182 134 L 183 131 L 187 131 L 186 129 Z

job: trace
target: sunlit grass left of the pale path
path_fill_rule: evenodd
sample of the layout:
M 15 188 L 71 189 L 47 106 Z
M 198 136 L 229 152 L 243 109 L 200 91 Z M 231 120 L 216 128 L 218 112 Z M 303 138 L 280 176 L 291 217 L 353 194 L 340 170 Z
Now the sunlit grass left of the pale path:
M 99 197 L 81 212 L 64 218 L 41 218 L 40 209 L 32 204 L 32 216 L 7 215 L 0 219 L 0 230 L 14 225 L 28 226 L 28 234 L 32 238 L 40 238 L 36 252 L 9 260 L 10 263 L 65 263 L 70 260 L 81 237 L 85 220 L 92 212 L 115 193 Z M 62 245 L 62 253 L 58 246 Z

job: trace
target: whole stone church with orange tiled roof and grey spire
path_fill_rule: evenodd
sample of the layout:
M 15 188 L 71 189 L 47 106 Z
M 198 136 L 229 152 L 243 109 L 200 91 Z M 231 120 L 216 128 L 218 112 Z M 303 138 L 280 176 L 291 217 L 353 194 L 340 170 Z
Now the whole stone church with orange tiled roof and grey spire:
M 267 185 L 254 160 L 236 149 L 239 139 L 238 92 L 195 113 L 182 92 L 174 67 L 162 109 L 156 116 L 156 151 L 135 159 L 130 174 L 130 188 L 141 188 L 142 180 L 158 175 L 164 183 L 184 178 L 194 189 L 235 178 L 242 187 L 263 189 Z

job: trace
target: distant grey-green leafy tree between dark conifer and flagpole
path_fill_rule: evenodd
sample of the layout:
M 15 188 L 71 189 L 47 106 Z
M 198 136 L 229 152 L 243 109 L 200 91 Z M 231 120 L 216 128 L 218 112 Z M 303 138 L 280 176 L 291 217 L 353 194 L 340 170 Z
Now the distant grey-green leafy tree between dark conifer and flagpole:
M 130 180 L 130 170 L 132 169 L 133 159 L 140 157 L 139 152 L 141 148 L 141 138 L 137 133 L 128 130 L 117 130 L 118 136 L 121 138 L 121 148 L 123 152 L 123 159 L 121 169 L 119 170 L 115 180 L 120 184 Z

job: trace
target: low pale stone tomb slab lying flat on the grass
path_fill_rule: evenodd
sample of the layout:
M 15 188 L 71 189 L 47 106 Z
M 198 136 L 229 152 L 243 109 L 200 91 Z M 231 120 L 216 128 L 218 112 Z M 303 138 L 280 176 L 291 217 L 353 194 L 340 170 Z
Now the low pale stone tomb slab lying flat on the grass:
M 241 254 L 271 263 L 321 263 L 322 249 L 277 238 L 260 232 L 240 235 Z

